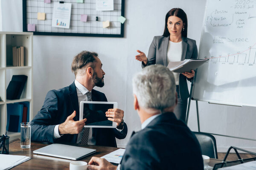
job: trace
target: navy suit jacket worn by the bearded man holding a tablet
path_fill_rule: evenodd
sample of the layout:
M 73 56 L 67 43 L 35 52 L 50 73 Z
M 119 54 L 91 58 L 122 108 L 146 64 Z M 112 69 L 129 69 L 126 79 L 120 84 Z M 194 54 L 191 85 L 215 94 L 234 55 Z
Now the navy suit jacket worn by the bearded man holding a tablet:
M 96 90 L 92 90 L 92 100 L 107 102 L 105 94 Z M 74 120 L 79 120 L 79 103 L 75 82 L 65 88 L 49 91 L 43 107 L 31 121 L 31 140 L 36 142 L 76 143 L 78 134 L 64 134 L 58 139 L 53 138 L 55 125 L 65 122 L 67 116 L 70 116 L 73 111 L 76 111 Z M 116 128 L 93 128 L 96 145 L 116 147 L 115 137 L 124 139 L 126 134 L 126 124 L 124 124 L 122 134 Z

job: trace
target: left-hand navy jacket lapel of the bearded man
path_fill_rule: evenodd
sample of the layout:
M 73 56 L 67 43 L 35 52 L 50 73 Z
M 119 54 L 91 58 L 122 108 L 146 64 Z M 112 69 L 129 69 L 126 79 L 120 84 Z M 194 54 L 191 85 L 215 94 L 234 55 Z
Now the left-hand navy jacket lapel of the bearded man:
M 77 97 L 77 92 L 76 92 L 76 85 L 75 82 L 73 82 L 69 86 L 69 91 L 70 91 L 70 102 L 73 108 L 73 111 L 76 111 L 76 117 L 74 118 L 75 121 L 79 120 L 79 103 L 78 103 L 78 97 Z

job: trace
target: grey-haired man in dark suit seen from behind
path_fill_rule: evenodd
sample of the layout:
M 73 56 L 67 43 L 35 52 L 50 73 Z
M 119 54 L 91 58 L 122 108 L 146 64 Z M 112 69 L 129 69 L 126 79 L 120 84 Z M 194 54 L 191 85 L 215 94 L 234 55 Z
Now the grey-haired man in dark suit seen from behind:
M 172 71 L 163 65 L 145 67 L 135 75 L 133 90 L 142 130 L 132 135 L 118 167 L 92 157 L 88 169 L 203 170 L 198 140 L 173 113 L 177 93 Z

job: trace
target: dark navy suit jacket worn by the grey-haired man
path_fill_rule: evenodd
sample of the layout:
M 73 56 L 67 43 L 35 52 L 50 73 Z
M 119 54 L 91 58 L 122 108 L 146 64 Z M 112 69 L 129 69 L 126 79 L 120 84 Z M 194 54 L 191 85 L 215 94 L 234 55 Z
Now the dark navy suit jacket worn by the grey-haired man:
M 163 113 L 128 142 L 121 170 L 203 170 L 195 135 L 174 113 Z

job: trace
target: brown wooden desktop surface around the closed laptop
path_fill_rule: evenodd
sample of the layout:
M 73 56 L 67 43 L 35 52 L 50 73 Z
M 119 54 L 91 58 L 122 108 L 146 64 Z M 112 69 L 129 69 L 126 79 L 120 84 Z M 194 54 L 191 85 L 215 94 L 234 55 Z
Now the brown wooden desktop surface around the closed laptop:
M 22 164 L 19 164 L 16 167 L 13 167 L 12 170 L 42 170 L 42 169 L 69 170 L 69 164 L 70 164 L 70 161 L 72 160 L 56 158 L 52 156 L 43 156 L 43 155 L 38 155 L 33 153 L 33 150 L 37 150 L 46 145 L 48 144 L 31 142 L 31 148 L 22 149 L 20 148 L 20 139 L 17 139 L 11 142 L 9 144 L 10 155 L 24 155 L 24 156 L 31 157 L 30 160 L 23 162 Z M 79 161 L 86 161 L 87 163 L 90 161 L 92 156 L 101 157 L 118 149 L 116 147 L 104 147 L 104 146 L 95 146 L 95 145 L 88 145 L 88 144 L 72 144 L 72 145 L 96 149 L 96 153 L 86 156 L 83 159 L 79 159 Z

